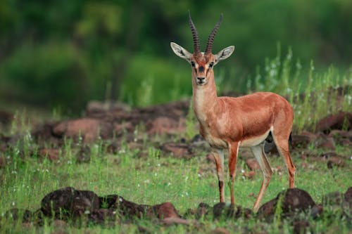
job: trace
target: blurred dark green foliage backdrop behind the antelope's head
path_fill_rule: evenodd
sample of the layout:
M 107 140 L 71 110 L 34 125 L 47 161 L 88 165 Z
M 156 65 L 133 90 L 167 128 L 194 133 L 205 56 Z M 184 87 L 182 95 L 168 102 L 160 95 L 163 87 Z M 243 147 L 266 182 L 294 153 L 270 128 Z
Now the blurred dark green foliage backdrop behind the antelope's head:
M 215 68 L 231 91 L 247 91 L 278 42 L 303 70 L 310 59 L 318 70 L 351 65 L 351 0 L 3 0 L 1 105 L 80 112 L 93 99 L 143 106 L 191 96 L 190 65 L 170 49 L 175 41 L 193 51 L 188 10 L 202 50 L 224 14 L 213 53 L 236 46 Z

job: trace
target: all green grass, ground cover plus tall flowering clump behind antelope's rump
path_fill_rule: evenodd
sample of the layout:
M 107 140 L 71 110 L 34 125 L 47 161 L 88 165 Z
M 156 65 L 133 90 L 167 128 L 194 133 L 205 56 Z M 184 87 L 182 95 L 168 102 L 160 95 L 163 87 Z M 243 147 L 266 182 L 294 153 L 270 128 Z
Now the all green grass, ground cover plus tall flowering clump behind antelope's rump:
M 341 75 L 334 68 L 329 68 L 327 72 L 315 74 L 314 65 L 311 63 L 306 81 L 298 83 L 298 74 L 292 75 L 290 71 L 290 59 L 288 55 L 282 63 L 278 62 L 279 58 L 268 60 L 265 74 L 258 74 L 256 84 L 249 84 L 249 89 L 276 91 L 286 96 L 295 110 L 294 133 L 313 131 L 315 123 L 330 113 L 339 110 L 351 112 L 351 72 Z M 297 72 L 299 73 L 299 70 Z M 277 80 L 280 82 L 274 82 Z M 342 95 L 339 92 L 342 92 Z M 135 138 L 142 145 L 141 149 L 130 148 L 130 142 L 122 138 L 116 153 L 109 153 L 107 150 L 107 145 L 114 141 L 113 139 L 98 139 L 89 144 L 90 160 L 84 163 L 77 162 L 75 156 L 82 142 L 70 139 L 66 139 L 60 148 L 58 161 L 52 162 L 40 157 L 39 145 L 30 134 L 32 126 L 29 122 L 33 120 L 28 122 L 28 118 L 31 119 L 18 112 L 11 128 L 8 129 L 8 134 L 20 134 L 20 137 L 15 144 L 1 152 L 5 159 L 5 166 L 0 169 L 1 233 L 136 233 L 141 226 L 150 233 L 210 233 L 218 227 L 224 227 L 232 233 L 293 232 L 289 221 L 276 220 L 273 223 L 265 223 L 257 219 L 206 219 L 190 226 L 163 226 L 148 219 L 141 219 L 132 223 L 122 222 L 113 228 L 77 228 L 70 225 L 58 227 L 49 221 L 46 221 L 44 226 L 23 225 L 20 221 L 13 223 L 4 218 L 6 210 L 14 207 L 32 211 L 39 209 L 44 195 L 66 186 L 92 190 L 98 195 L 118 194 L 139 204 L 172 202 L 181 215 L 187 212 L 187 209 L 195 209 L 200 202 L 210 205 L 218 203 L 215 165 L 206 159 L 207 148 L 196 149 L 194 157 L 185 160 L 166 154 L 158 147 L 164 141 L 180 142 L 182 137 L 186 138 L 187 143 L 190 141 L 196 134 L 191 112 L 184 136 L 149 137 L 141 130 L 135 133 Z M 51 143 L 47 142 L 45 146 L 50 148 Z M 352 186 L 351 147 L 336 147 L 336 154 L 346 159 L 344 167 L 328 169 L 324 160 L 302 157 L 305 154 L 322 155 L 323 152 L 325 150 L 317 148 L 314 144 L 292 150 L 292 159 L 297 168 L 296 187 L 307 190 L 317 204 L 321 203 L 323 195 L 334 191 L 344 193 Z M 263 203 L 288 188 L 288 176 L 282 158 L 270 155 L 269 160 L 275 173 Z M 246 171 L 249 171 L 249 168 L 240 152 L 235 197 L 237 204 L 251 208 L 255 201 L 253 194 L 258 193 L 262 176 L 260 171 L 257 171 L 253 178 L 247 178 L 243 175 Z M 227 202 L 230 200 L 229 193 L 229 189 L 225 187 Z M 331 219 L 324 217 L 315 221 L 309 218 L 309 221 L 312 221 L 310 232 L 351 233 L 351 221 L 334 215 L 336 219 L 332 223 Z

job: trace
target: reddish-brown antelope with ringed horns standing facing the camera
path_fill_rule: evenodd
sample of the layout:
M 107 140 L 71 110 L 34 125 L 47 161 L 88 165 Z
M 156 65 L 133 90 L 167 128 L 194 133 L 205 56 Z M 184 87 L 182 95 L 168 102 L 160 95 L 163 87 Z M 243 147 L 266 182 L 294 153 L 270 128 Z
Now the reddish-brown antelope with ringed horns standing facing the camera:
M 222 14 L 213 30 L 210 32 L 206 51 L 201 52 L 199 36 L 188 13 L 191 27 L 194 53 L 185 48 L 170 43 L 172 51 L 191 64 L 193 109 L 199 121 L 199 133 L 209 143 L 211 154 L 215 159 L 218 174 L 220 202 L 225 202 L 224 196 L 224 150 L 229 152 L 229 174 L 231 204 L 234 204 L 234 178 L 239 148 L 251 148 L 263 173 L 253 211 L 258 212 L 260 201 L 268 188 L 272 169 L 265 155 L 265 139 L 271 134 L 279 155 L 284 159 L 289 174 L 289 188 L 294 188 L 296 168 L 289 153 L 293 108 L 282 96 L 270 92 L 252 93 L 237 98 L 218 97 L 215 86 L 213 67 L 221 60 L 229 58 L 234 46 L 223 48 L 213 54 L 212 47 L 215 34 L 218 32 Z

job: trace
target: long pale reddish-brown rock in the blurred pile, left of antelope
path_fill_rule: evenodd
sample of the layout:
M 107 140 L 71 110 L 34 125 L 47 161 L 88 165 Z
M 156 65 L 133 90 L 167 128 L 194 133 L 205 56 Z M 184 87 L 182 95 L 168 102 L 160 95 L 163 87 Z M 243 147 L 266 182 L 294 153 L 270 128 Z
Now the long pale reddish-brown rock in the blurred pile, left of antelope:
M 112 124 L 98 119 L 82 118 L 61 122 L 54 126 L 55 136 L 82 137 L 85 143 L 94 141 L 98 136 L 108 138 L 113 135 Z

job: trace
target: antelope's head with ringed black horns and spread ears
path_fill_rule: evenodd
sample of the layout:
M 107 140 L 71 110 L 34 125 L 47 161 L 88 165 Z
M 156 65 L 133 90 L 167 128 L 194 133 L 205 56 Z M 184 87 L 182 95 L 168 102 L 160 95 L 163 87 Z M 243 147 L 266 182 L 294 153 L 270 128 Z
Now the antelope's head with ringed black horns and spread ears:
M 216 23 L 215 27 L 209 34 L 208 42 L 206 44 L 206 51 L 204 53 L 201 52 L 198 32 L 196 30 L 196 27 L 194 26 L 194 23 L 192 22 L 191 14 L 189 12 L 188 20 L 193 36 L 194 52 L 189 53 L 189 51 L 187 51 L 185 48 L 177 45 L 174 42 L 171 42 L 170 46 L 172 48 L 172 51 L 174 51 L 177 56 L 183 58 L 184 60 L 187 60 L 191 64 L 192 83 L 198 86 L 203 86 L 206 85 L 210 79 L 213 79 L 213 67 L 217 63 L 219 63 L 220 60 L 225 60 L 226 58 L 229 58 L 231 56 L 232 52 L 234 52 L 234 46 L 223 48 L 219 53 L 216 54 L 213 54 L 211 51 L 213 48 L 215 34 L 216 32 L 218 32 L 218 29 L 220 27 L 222 14 L 220 15 L 220 18 Z

